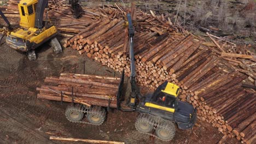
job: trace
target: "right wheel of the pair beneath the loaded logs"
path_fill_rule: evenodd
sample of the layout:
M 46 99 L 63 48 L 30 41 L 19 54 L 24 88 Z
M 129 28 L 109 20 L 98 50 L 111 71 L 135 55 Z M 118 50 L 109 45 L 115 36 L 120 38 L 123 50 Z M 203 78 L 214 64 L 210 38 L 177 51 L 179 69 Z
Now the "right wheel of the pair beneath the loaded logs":
M 87 113 L 87 119 L 94 125 L 101 125 L 106 119 L 106 110 L 101 106 L 92 106 Z

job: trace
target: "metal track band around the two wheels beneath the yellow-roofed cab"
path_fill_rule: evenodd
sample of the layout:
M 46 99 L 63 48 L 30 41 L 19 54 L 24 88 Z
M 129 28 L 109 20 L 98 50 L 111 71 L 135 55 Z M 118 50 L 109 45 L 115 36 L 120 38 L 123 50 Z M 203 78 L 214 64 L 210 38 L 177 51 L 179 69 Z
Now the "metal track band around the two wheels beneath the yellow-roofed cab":
M 164 130 L 168 131 L 168 133 L 170 133 L 170 136 L 168 137 L 168 139 L 162 139 L 158 135 L 152 133 L 152 131 L 155 131 L 155 130 L 151 130 L 149 133 L 145 133 L 138 128 L 139 122 L 146 122 L 149 125 L 153 125 L 154 129 L 156 129 L 156 130 L 164 129 Z M 137 117 L 135 127 L 136 127 L 137 131 L 139 131 L 139 133 L 154 136 L 162 141 L 171 141 L 173 139 L 173 137 L 175 135 L 175 131 L 176 131 L 174 123 L 167 121 L 165 119 L 162 119 L 161 117 L 156 117 L 156 116 L 150 115 L 148 113 L 141 113 Z

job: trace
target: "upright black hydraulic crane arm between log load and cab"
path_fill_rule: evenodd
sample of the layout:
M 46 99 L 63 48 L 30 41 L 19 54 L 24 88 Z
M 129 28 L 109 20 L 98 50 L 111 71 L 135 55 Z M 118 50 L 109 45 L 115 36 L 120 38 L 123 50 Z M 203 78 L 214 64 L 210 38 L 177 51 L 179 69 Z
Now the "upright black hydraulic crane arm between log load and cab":
M 135 34 L 133 25 L 132 25 L 132 18 L 131 14 L 127 14 L 127 20 L 128 20 L 128 29 L 129 29 L 129 43 L 130 43 L 130 69 L 131 69 L 131 76 L 130 76 L 130 82 L 131 82 L 131 98 L 130 98 L 130 107 L 135 108 L 136 107 L 136 98 L 141 97 L 141 93 L 139 92 L 139 89 L 136 85 L 136 73 L 135 73 L 135 57 L 133 52 L 133 37 Z

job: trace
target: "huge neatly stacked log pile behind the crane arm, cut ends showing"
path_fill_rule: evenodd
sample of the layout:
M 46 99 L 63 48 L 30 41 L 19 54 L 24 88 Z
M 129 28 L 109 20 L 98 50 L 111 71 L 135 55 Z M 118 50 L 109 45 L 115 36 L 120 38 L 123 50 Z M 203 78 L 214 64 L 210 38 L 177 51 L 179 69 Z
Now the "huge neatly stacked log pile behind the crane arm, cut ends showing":
M 148 21 L 158 22 L 150 23 L 150 27 L 168 23 L 153 14 L 144 17 Z M 125 19 L 116 18 L 107 17 L 92 24 L 85 31 L 67 39 L 64 46 L 72 47 L 81 55 L 114 70 L 124 69 L 129 76 L 127 27 L 121 24 Z M 139 18 L 137 16 L 136 21 L 140 19 L 143 19 L 142 15 Z M 241 87 L 247 76 L 227 64 L 226 58 L 220 56 L 224 53 L 222 49 L 206 46 L 203 39 L 183 33 L 182 30 L 176 31 L 172 25 L 168 26 L 159 31 L 149 28 L 150 31 L 144 32 L 141 29 L 143 25 L 138 26 L 137 23 L 136 28 L 139 27 L 139 30 L 134 38 L 137 82 L 152 88 L 165 80 L 176 83 L 182 88 L 181 100 L 197 107 L 197 114 L 203 121 L 212 123 L 226 137 L 236 136 L 242 143 L 251 143 L 255 137 L 254 133 L 248 131 L 254 124 L 244 121 L 255 120 L 255 117 L 250 116 L 256 107 L 255 92 Z M 253 56 L 249 58 L 254 59 Z M 238 127 L 240 124 L 244 126 Z M 238 134 L 235 134 L 233 129 L 237 127 Z

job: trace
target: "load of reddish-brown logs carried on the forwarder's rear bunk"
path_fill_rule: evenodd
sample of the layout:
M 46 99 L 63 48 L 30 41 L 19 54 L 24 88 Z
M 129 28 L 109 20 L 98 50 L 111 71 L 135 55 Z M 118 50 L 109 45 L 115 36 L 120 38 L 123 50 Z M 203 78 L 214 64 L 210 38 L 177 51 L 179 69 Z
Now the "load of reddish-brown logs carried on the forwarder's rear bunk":
M 105 107 L 110 101 L 110 107 L 117 107 L 120 82 L 117 77 L 62 73 L 60 77 L 46 77 L 44 81 L 53 85 L 38 87 L 38 98 Z

